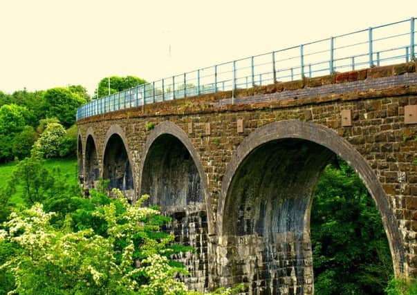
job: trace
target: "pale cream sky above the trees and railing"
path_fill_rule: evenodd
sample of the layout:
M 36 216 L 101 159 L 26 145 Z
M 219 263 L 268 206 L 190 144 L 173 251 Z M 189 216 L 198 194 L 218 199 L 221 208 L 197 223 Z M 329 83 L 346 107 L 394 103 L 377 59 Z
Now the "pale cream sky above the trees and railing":
M 152 81 L 417 17 L 406 1 L 0 0 L 0 91 Z M 171 48 L 171 50 L 169 50 Z

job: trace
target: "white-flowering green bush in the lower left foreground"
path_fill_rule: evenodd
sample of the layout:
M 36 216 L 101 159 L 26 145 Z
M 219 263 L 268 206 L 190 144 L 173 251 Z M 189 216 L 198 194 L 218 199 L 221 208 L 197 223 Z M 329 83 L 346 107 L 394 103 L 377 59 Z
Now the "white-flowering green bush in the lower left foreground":
M 0 243 L 17 248 L 0 266 L 15 278 L 9 294 L 196 294 L 175 280 L 187 272 L 169 261 L 173 237 L 159 231 L 158 210 L 142 207 L 149 196 L 130 205 L 118 190 L 114 200 L 94 194 L 60 226 L 39 203 L 3 223 Z

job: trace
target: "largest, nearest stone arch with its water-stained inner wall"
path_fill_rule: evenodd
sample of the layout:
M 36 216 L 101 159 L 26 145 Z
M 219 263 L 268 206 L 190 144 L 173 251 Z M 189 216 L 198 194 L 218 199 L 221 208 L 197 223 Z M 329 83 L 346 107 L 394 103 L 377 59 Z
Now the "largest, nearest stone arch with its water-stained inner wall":
M 278 278 L 270 274 L 265 278 L 270 284 L 269 289 L 277 287 L 277 279 L 283 276 L 297 278 L 298 285 L 306 286 L 305 280 L 309 280 L 312 274 L 304 273 L 304 267 L 298 264 L 306 265 L 306 261 L 311 260 L 308 257 L 311 256 L 308 248 L 311 247 L 308 246 L 311 195 L 319 174 L 334 153 L 357 171 L 375 200 L 389 240 L 394 272 L 402 274 L 402 238 L 388 198 L 369 164 L 349 142 L 331 129 L 310 122 L 288 120 L 268 124 L 251 133 L 238 147 L 226 169 L 219 198 L 217 230 L 223 236 L 223 245 L 220 246 L 237 256 L 230 257 L 223 265 L 230 270 L 231 276 L 244 273 L 248 267 L 256 269 L 261 263 L 255 259 L 243 261 L 239 266 L 239 251 L 249 254 L 252 250 L 248 247 L 263 245 L 259 246 L 262 248 L 273 244 L 273 247 L 265 246 L 266 250 L 259 258 L 268 260 L 266 256 L 270 255 L 273 257 L 270 260 L 275 261 L 275 265 L 268 267 L 274 267 Z M 242 241 L 245 246 L 239 250 Z M 251 243 L 252 246 L 248 246 Z M 234 245 L 234 250 L 230 245 Z M 279 251 L 270 251 L 272 248 Z M 289 268 L 279 264 L 283 259 L 290 261 Z M 263 274 L 264 270 L 261 269 L 257 275 Z M 235 282 L 232 280 L 232 283 Z

